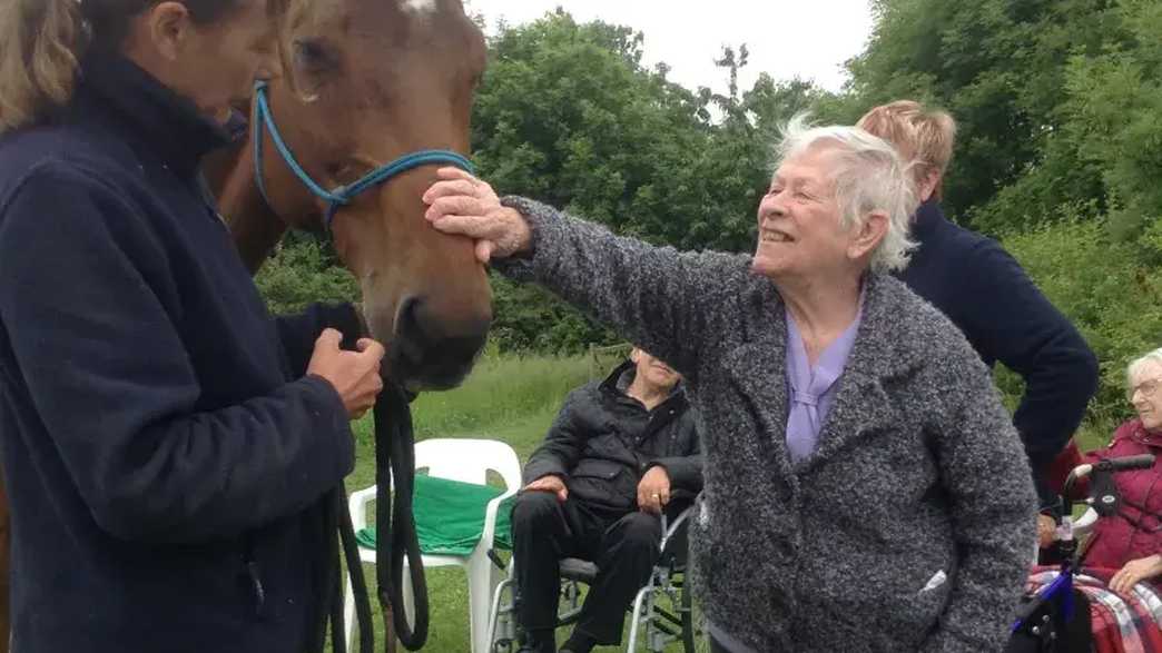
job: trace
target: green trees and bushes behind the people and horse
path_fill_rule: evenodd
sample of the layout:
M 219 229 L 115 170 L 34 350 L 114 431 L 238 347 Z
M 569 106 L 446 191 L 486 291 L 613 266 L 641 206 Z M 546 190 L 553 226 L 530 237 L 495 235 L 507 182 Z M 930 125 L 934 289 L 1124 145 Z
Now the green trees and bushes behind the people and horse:
M 1124 368 L 1162 345 L 1162 3 L 876 0 L 851 81 L 829 93 L 760 76 L 744 44 L 725 94 L 641 64 L 644 35 L 558 10 L 489 40 L 473 117 L 481 174 L 611 229 L 682 249 L 747 251 L 779 125 L 854 122 L 912 98 L 960 123 L 946 209 L 1002 241 L 1089 339 L 1103 383 L 1090 428 L 1124 418 Z M 708 82 L 711 80 L 706 80 Z M 559 354 L 612 335 L 548 293 L 496 278 L 495 351 Z M 264 268 L 275 310 L 353 297 L 325 243 L 296 236 Z M 999 371 L 1012 397 L 1019 383 Z

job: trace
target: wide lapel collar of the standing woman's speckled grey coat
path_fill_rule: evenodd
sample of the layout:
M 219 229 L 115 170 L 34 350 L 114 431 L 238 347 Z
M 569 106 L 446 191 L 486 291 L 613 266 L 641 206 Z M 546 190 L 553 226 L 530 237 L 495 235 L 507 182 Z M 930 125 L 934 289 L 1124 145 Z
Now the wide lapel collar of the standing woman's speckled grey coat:
M 791 479 L 837 455 L 862 433 L 891 430 L 898 419 L 885 385 L 924 364 L 923 349 L 916 343 L 928 336 L 916 320 L 901 320 L 898 315 L 901 300 L 908 293 L 903 284 L 884 274 L 868 273 L 855 345 L 819 433 L 819 444 L 811 455 L 792 465 L 786 443 L 786 308 L 769 280 L 758 278 L 758 281 L 741 297 L 746 307 L 741 325 L 746 342 L 731 350 L 724 364 L 732 383 L 751 400 L 763 431 L 774 435 L 765 438 L 761 446 L 769 449 L 770 459 L 784 478 Z M 754 374 L 755 369 L 772 373 Z

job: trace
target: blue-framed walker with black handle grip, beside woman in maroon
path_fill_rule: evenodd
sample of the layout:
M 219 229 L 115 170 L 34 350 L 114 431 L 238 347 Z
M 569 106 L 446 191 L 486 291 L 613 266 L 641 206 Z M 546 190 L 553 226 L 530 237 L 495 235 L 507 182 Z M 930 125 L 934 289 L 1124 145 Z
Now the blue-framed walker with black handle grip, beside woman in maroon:
M 1100 648 L 1093 641 L 1090 602 L 1075 587 L 1075 580 L 1082 577 L 1076 560 L 1077 537 L 1089 530 L 1098 517 L 1117 514 L 1119 497 L 1112 482 L 1113 474 L 1148 469 L 1153 465 L 1153 455 L 1128 455 L 1081 465 L 1069 473 L 1062 491 L 1063 517 L 1057 528 L 1060 568 L 1049 574 L 1049 582 L 1024 597 L 1005 653 L 1090 653 Z M 1082 517 L 1083 524 L 1078 524 L 1073 517 L 1070 497 L 1074 485 L 1085 478 L 1092 481 L 1091 496 L 1084 500 L 1091 509 Z

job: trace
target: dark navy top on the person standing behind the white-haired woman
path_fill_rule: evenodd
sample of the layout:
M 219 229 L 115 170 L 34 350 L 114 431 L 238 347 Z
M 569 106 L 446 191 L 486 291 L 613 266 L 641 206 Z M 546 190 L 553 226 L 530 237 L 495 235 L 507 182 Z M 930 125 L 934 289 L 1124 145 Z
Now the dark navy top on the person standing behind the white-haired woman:
M 1025 379 L 1013 415 L 1043 505 L 1055 504 L 1042 474 L 1097 392 L 1097 359 L 1069 320 L 1041 294 L 996 241 L 945 218 L 937 202 L 916 215 L 919 249 L 901 279 L 953 321 L 984 364 Z

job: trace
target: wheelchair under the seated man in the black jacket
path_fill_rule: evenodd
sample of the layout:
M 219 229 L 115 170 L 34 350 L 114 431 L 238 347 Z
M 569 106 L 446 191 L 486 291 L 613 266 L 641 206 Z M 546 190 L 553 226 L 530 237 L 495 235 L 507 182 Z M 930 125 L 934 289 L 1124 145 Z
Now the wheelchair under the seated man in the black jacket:
M 710 651 L 710 636 L 705 618 L 691 595 L 687 582 L 687 524 L 693 517 L 693 507 L 686 508 L 672 518 L 662 515 L 660 543 L 661 555 L 650 574 L 650 580 L 638 590 L 630 608 L 630 632 L 625 641 L 626 652 L 684 651 L 705 653 Z M 489 615 L 489 653 L 514 653 L 521 646 L 524 633 L 517 625 L 516 605 L 521 597 L 516 591 L 514 558 L 508 565 L 495 554 L 493 562 L 508 572 L 508 577 L 493 595 Z M 507 568 L 505 568 L 507 567 Z M 597 567 L 587 560 L 566 558 L 560 562 L 561 596 L 557 627 L 571 626 L 581 616 L 583 588 L 593 583 Z

